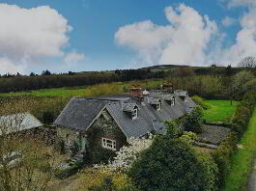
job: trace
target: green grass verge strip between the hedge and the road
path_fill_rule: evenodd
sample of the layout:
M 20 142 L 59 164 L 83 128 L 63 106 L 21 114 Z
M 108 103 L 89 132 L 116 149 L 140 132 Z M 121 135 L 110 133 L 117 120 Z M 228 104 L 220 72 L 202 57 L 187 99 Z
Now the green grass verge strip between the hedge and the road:
M 226 185 L 221 191 L 245 191 L 248 173 L 252 168 L 256 150 L 256 108 L 254 110 L 247 131 L 240 144 L 243 146 L 232 158 L 233 165 Z

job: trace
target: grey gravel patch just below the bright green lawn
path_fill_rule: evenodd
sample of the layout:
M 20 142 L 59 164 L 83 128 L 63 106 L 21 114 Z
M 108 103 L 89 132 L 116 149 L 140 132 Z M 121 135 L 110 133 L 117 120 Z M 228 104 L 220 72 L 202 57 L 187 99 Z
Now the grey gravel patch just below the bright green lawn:
M 204 124 L 203 129 L 203 132 L 198 135 L 198 141 L 213 145 L 218 145 L 221 141 L 227 139 L 231 131 L 230 128 L 208 124 Z

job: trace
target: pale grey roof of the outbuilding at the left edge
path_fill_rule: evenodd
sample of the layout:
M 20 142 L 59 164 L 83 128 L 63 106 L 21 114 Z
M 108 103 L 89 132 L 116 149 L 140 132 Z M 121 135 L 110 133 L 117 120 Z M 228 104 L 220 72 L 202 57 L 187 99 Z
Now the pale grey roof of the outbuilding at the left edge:
M 30 113 L 19 113 L 10 116 L 0 116 L 0 135 L 19 132 L 43 126 Z

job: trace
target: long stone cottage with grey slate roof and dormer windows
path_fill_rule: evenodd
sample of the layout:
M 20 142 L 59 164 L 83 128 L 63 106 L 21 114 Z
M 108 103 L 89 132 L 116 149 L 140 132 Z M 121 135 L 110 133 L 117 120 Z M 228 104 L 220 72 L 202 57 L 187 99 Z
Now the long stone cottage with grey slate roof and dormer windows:
M 179 119 L 195 106 L 185 92 L 142 91 L 133 87 L 130 95 L 100 98 L 73 97 L 54 122 L 65 149 L 120 150 L 128 138 L 150 133 L 165 134 L 166 120 Z

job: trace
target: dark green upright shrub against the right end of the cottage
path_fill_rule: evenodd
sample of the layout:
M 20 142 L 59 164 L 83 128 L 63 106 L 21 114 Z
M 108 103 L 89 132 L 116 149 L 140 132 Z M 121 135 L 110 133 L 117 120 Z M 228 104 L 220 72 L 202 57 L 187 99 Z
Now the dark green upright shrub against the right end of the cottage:
M 203 108 L 199 105 L 195 106 L 194 109 L 185 116 L 185 130 L 201 133 L 203 131 L 203 115 Z

